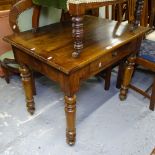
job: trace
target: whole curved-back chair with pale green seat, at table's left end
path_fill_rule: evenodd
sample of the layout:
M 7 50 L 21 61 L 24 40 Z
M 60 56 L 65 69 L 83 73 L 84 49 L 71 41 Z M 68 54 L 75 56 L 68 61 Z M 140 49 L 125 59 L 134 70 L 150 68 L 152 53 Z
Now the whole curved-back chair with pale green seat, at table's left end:
M 10 26 L 14 33 L 29 29 L 33 29 L 35 31 L 40 26 L 45 26 L 60 21 L 60 9 L 41 8 L 34 5 L 32 1 L 19 1 L 18 5 L 20 8 L 17 8 L 16 5 L 17 4 L 15 4 L 11 9 L 9 18 Z M 0 64 L 4 72 L 5 80 L 7 83 L 9 83 L 10 74 L 19 73 L 19 66 L 14 60 L 12 50 L 6 51 L 0 56 Z

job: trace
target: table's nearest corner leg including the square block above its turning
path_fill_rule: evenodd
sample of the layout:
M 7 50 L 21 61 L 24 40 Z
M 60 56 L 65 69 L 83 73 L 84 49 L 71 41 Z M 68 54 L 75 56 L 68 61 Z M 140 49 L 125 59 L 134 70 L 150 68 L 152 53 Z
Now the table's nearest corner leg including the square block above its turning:
M 64 92 L 66 114 L 66 142 L 72 146 L 76 141 L 76 93 L 80 87 L 79 74 L 63 75 L 60 82 Z

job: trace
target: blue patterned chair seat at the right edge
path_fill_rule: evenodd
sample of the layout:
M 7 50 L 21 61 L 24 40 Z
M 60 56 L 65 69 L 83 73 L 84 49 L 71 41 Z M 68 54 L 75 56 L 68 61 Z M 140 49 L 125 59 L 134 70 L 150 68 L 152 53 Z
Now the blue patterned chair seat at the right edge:
M 155 62 L 155 41 L 143 40 L 139 56 L 151 62 Z

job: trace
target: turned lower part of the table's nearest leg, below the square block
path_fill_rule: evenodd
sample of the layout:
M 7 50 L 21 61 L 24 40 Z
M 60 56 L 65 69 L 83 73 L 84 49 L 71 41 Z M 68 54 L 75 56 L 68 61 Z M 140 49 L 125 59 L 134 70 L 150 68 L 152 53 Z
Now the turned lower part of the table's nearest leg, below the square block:
M 67 121 L 67 129 L 66 129 L 67 143 L 69 145 L 74 145 L 75 139 L 76 139 L 76 128 L 75 128 L 76 96 L 75 95 L 72 97 L 65 96 L 65 112 L 66 112 L 66 121 Z

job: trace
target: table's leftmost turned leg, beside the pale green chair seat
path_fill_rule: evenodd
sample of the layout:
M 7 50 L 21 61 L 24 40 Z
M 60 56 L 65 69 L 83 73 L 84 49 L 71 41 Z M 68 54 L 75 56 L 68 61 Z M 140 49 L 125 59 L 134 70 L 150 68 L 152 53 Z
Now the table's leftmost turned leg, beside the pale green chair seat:
M 32 86 L 31 71 L 25 65 L 22 65 L 19 70 L 21 73 L 22 83 L 25 90 L 27 111 L 31 115 L 33 115 L 35 111 L 35 103 L 33 100 L 34 92 L 33 92 L 33 86 Z

